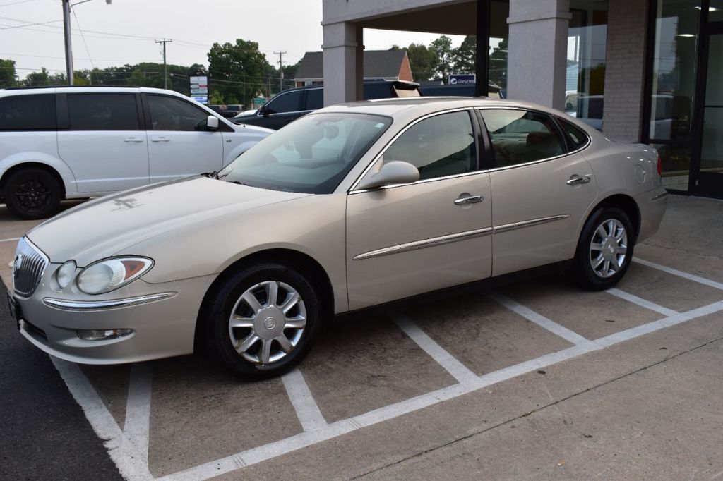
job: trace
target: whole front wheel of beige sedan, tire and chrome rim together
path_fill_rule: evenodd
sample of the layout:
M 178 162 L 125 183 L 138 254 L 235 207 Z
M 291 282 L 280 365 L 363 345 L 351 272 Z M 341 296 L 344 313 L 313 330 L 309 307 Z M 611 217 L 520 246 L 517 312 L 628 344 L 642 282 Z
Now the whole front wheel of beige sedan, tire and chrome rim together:
M 314 287 L 281 264 L 231 275 L 206 306 L 206 350 L 249 380 L 280 376 L 298 365 L 320 324 Z

